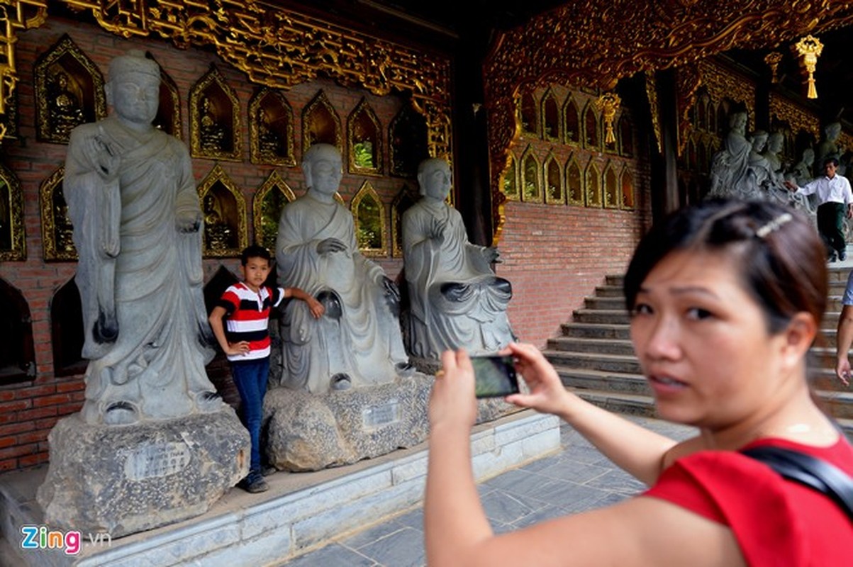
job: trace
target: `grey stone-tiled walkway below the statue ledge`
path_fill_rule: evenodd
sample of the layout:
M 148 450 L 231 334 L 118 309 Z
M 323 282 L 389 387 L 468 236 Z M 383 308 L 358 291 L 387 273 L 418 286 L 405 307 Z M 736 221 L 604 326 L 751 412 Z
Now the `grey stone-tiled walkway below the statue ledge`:
M 676 439 L 694 431 L 659 419 L 630 419 Z M 486 516 L 497 533 L 608 506 L 645 488 L 568 425 L 562 425 L 560 437 L 559 453 L 480 483 Z M 427 561 L 423 539 L 419 507 L 276 567 L 420 567 Z

